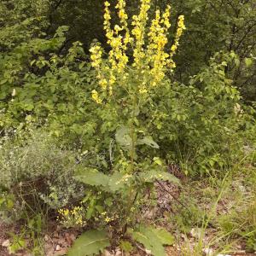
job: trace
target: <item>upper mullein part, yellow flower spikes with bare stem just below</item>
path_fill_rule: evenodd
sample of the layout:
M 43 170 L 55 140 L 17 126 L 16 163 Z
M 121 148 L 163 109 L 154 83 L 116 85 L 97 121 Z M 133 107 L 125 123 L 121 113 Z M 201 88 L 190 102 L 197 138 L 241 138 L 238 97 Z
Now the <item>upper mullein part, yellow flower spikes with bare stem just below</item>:
M 91 65 L 96 69 L 99 85 L 92 90 L 92 99 L 99 108 L 114 108 L 113 113 L 119 113 L 120 119 L 123 116 L 123 123 L 129 127 L 131 137 L 129 151 L 132 170 L 137 144 L 135 126 L 139 123 L 137 115 L 149 95 L 161 85 L 166 71 L 172 72 L 176 67 L 173 55 L 186 29 L 184 16 L 180 15 L 174 43 L 166 51 L 171 7 L 168 5 L 162 14 L 156 10 L 148 27 L 150 2 L 141 0 L 139 14 L 132 16 L 132 29 L 128 26 L 125 0 L 119 0 L 115 6 L 119 16 L 119 24 L 116 25 L 111 24 L 110 3 L 105 2 L 104 30 L 110 50 L 105 56 L 101 45 L 95 44 L 90 48 Z M 125 102 L 128 113 L 120 108 L 120 102 Z

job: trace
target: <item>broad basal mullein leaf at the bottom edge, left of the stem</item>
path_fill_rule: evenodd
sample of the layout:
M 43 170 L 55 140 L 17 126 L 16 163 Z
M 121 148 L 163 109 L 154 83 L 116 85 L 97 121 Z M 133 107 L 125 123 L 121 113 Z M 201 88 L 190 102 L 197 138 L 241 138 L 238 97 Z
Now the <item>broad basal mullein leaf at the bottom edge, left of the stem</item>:
M 90 256 L 101 253 L 104 248 L 109 247 L 107 233 L 101 230 L 89 230 L 84 232 L 74 241 L 67 253 L 68 256 Z

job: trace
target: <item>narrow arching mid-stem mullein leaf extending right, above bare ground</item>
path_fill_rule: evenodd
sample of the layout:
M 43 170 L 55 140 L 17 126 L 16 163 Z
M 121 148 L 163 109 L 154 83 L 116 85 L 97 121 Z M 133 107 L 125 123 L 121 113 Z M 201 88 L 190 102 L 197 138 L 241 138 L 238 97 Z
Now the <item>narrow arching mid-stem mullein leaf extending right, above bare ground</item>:
M 148 172 L 141 172 L 140 177 L 143 179 L 144 182 L 152 183 L 155 180 L 163 180 L 169 181 L 172 183 L 179 183 L 179 179 L 172 175 L 169 172 L 164 172 L 162 170 L 152 169 Z

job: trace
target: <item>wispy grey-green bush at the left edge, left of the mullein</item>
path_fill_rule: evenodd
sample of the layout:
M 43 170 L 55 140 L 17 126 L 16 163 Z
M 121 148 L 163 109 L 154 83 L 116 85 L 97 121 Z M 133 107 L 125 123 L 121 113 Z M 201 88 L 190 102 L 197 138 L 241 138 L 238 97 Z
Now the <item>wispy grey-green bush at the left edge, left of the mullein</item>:
M 0 152 L 1 191 L 18 204 L 56 209 L 83 195 L 83 186 L 73 179 L 78 154 L 57 147 L 44 131 L 3 137 Z

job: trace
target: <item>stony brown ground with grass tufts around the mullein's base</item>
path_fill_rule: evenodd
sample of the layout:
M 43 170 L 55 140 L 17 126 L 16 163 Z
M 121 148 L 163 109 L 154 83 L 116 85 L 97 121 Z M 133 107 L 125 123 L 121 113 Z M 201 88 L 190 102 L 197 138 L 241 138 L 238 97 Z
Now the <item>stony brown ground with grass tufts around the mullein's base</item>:
M 255 191 L 244 182 L 242 175 L 237 179 L 226 179 L 224 182 L 193 182 L 183 178 L 182 182 L 182 187 L 172 183 L 155 183 L 158 203 L 154 207 L 145 207 L 143 211 L 144 218 L 158 226 L 166 227 L 175 236 L 175 244 L 166 247 L 168 256 L 256 255 L 247 252 L 246 241 L 237 236 L 235 231 L 234 234 L 225 235 L 224 230 L 221 230 L 221 227 L 230 225 L 231 218 L 231 224 L 239 224 L 242 220 L 242 225 L 245 225 L 246 221 L 250 225 L 250 222 L 256 219 Z M 247 209 L 250 208 L 247 207 L 251 205 L 253 211 L 248 213 Z M 239 219 L 236 219 L 236 213 Z M 9 255 L 9 233 L 17 233 L 18 230 L 17 226 L 0 223 L 0 256 Z M 80 232 L 81 230 L 67 230 L 52 220 L 48 230 L 42 234 L 41 253 L 44 250 L 43 255 L 46 256 L 65 255 Z M 219 236 L 223 238 L 218 240 Z M 20 251 L 15 255 L 33 254 Z M 125 254 L 117 247 L 107 248 L 103 255 Z M 136 244 L 131 255 L 143 256 L 147 255 L 147 252 Z

